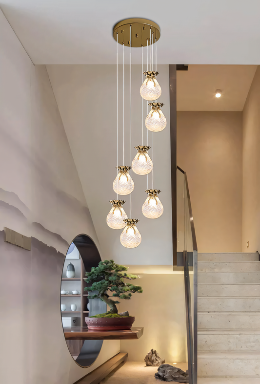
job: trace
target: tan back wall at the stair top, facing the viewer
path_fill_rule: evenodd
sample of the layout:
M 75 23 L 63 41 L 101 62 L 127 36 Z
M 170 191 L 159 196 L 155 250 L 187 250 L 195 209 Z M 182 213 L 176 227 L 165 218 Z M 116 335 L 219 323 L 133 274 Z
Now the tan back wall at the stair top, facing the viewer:
M 187 172 L 199 252 L 241 252 L 242 113 L 179 111 L 177 164 Z

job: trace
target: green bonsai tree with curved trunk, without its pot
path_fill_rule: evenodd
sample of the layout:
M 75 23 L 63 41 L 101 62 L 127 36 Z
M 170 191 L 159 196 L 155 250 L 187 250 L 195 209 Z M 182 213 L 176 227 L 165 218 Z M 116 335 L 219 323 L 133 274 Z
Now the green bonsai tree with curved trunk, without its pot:
M 142 293 L 140 285 L 133 285 L 126 280 L 134 280 L 138 276 L 127 274 L 127 267 L 116 264 L 114 260 L 100 261 L 98 267 L 92 267 L 90 272 L 86 272 L 85 281 L 92 284 L 91 287 L 85 287 L 85 291 L 97 291 L 98 293 L 89 296 L 89 299 L 100 299 L 104 301 L 111 309 L 104 315 L 118 314 L 116 304 L 120 301 L 111 298 L 130 300 L 133 293 Z M 107 291 L 112 292 L 108 296 Z

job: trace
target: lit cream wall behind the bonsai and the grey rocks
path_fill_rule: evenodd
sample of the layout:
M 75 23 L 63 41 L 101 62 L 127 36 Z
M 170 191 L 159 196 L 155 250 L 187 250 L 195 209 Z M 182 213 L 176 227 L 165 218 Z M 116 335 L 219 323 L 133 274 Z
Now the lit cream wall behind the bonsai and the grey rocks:
M 130 361 L 143 361 L 151 348 L 166 362 L 186 361 L 186 323 L 183 275 L 141 275 L 137 284 L 142 294 L 121 300 L 120 311 L 135 316 L 135 326 L 144 326 L 143 336 L 136 341 L 122 340 L 121 352 Z

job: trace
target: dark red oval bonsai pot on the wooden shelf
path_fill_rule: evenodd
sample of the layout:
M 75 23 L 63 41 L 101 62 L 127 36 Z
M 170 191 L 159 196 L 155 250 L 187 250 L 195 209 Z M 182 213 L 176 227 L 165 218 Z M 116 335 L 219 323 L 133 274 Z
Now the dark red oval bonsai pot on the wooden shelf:
M 96 331 L 115 331 L 131 329 L 135 318 L 85 318 L 89 330 Z

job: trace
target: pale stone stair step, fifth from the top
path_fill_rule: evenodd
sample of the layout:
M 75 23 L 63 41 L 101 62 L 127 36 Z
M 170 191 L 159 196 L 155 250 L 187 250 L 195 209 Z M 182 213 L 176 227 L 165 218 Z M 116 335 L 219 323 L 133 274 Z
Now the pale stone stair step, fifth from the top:
M 198 298 L 198 311 L 260 312 L 260 298 L 206 297 Z

